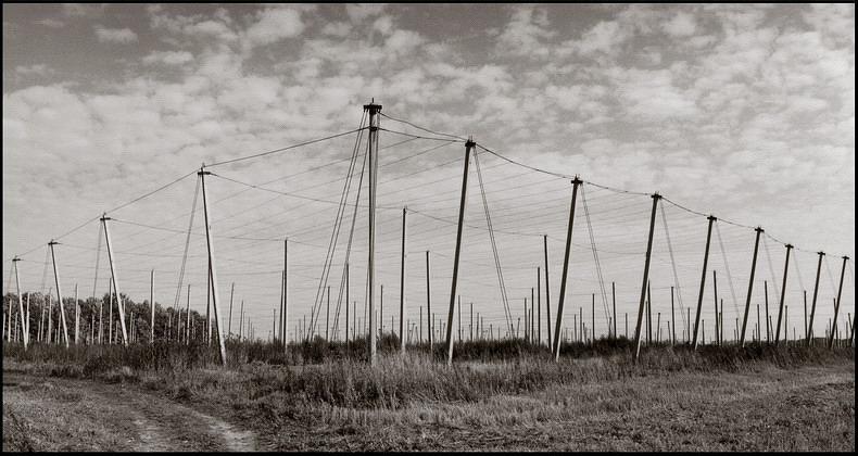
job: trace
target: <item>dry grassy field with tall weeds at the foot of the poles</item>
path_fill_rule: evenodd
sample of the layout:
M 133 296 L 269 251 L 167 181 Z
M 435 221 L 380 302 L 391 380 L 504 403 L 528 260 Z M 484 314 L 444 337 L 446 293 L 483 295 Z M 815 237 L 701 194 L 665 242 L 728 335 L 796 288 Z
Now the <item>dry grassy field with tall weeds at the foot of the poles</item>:
M 555 364 L 505 343 L 459 346 L 452 367 L 419 350 L 370 367 L 344 347 L 238 343 L 226 368 L 204 345 L 9 345 L 3 365 L 178 401 L 272 451 L 855 448 L 853 349 L 660 345 L 634 363 L 621 340 Z

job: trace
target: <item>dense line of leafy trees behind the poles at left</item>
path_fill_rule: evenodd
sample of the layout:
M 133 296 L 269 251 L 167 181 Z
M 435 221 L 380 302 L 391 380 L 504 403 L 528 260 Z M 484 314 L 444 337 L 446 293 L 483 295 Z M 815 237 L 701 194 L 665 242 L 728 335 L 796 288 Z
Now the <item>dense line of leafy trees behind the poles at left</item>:
M 64 343 L 63 324 L 60 305 L 55 297 L 40 292 L 22 293 L 25 320 L 28 321 L 30 342 Z M 152 309 L 149 301 L 136 303 L 119 293 L 119 300 L 104 293 L 101 299 L 88 297 L 77 301 L 74 297 L 63 299 L 62 313 L 65 315 L 68 342 L 75 342 L 75 320 L 77 313 L 78 343 L 123 343 L 122 326 L 119 325 L 119 307 L 125 311 L 125 328 L 128 342 L 150 342 L 152 338 Z M 7 293 L 3 296 L 3 334 L 5 341 L 22 341 L 17 295 Z M 212 315 L 214 325 L 214 315 Z M 207 340 L 206 318 L 199 312 L 190 311 L 190 322 L 187 309 L 164 307 L 155 302 L 154 338 L 179 342 L 204 342 Z

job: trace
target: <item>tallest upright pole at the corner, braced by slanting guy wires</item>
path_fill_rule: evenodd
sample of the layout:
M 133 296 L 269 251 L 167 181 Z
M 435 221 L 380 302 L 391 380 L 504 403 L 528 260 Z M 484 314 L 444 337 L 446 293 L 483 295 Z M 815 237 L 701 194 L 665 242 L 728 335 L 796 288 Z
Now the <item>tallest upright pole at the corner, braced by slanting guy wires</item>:
M 369 111 L 369 258 L 367 281 L 369 282 L 369 365 L 376 364 L 376 187 L 378 186 L 378 112 L 380 104 L 364 105 Z

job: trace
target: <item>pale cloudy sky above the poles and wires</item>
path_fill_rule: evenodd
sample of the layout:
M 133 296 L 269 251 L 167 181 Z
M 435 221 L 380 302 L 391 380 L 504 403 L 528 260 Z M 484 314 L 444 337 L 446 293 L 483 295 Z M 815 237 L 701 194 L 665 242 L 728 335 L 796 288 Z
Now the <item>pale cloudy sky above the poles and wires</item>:
M 98 218 L 108 212 L 121 291 L 148 300 L 155 269 L 165 283 L 155 301 L 173 305 L 191 207 L 202 217 L 194 170 L 353 131 L 373 100 L 384 115 L 379 277 L 387 302 L 396 303 L 387 304 L 384 318 L 399 303 L 405 205 L 415 211 L 408 315 L 416 320 L 427 301 L 427 250 L 437 278 L 432 312 L 446 312 L 460 139 L 471 136 L 509 305 L 519 314 L 544 267 L 541 233 L 550 236 L 556 306 L 569 177 L 580 175 L 592 224 L 579 212 L 573 308 L 585 309 L 592 293 L 606 305 L 602 289 L 616 281 L 619 313 L 636 312 L 648 194 L 658 192 L 670 201 L 658 221 L 671 228 L 654 245 L 656 294 L 682 284 L 685 307 L 696 301 L 705 215 L 714 214 L 723 220 L 723 248 L 710 261 L 722 261 L 712 268 L 730 276 L 731 293 L 720 270 L 718 287 L 733 306 L 744 305 L 753 228 L 760 226 L 768 243 L 754 301 L 764 299 L 760 280 L 770 289 L 781 283 L 788 242 L 797 248 L 788 269 L 793 308 L 812 289 L 815 252 L 824 251 L 820 302 L 831 317 L 841 257 L 855 256 L 854 4 L 4 3 L 5 274 L 20 255 L 25 290 L 53 287 L 47 242 L 56 239 L 63 294 L 77 283 L 105 293 Z M 266 331 L 277 312 L 283 238 L 294 242 L 290 325 L 318 301 L 337 201 L 345 176 L 359 176 L 361 157 L 350 170 L 356 136 L 211 167 L 213 231 L 225 258 L 219 299 L 237 282 Z M 505 314 L 488 297 L 496 296 L 499 279 L 479 180 L 469 176 L 463 261 L 470 263 L 459 289 L 496 328 Z M 365 203 L 358 210 L 365 214 Z M 191 307 L 204 309 L 200 219 L 191 225 L 184 283 L 197 290 Z M 352 253 L 361 259 L 352 259 L 351 276 L 364 291 L 366 223 L 358 217 Z M 338 268 L 346 241 L 335 242 Z M 853 267 L 850 259 L 844 305 L 854 313 Z M 335 302 L 341 274 L 328 283 Z M 606 328 L 596 321 L 597 331 Z

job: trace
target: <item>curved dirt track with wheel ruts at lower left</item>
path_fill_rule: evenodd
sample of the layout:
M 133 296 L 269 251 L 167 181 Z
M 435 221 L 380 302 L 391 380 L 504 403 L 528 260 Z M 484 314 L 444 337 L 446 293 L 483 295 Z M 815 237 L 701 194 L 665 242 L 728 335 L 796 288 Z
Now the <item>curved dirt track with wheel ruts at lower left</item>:
M 123 384 L 3 372 L 3 451 L 256 449 L 253 432 Z

